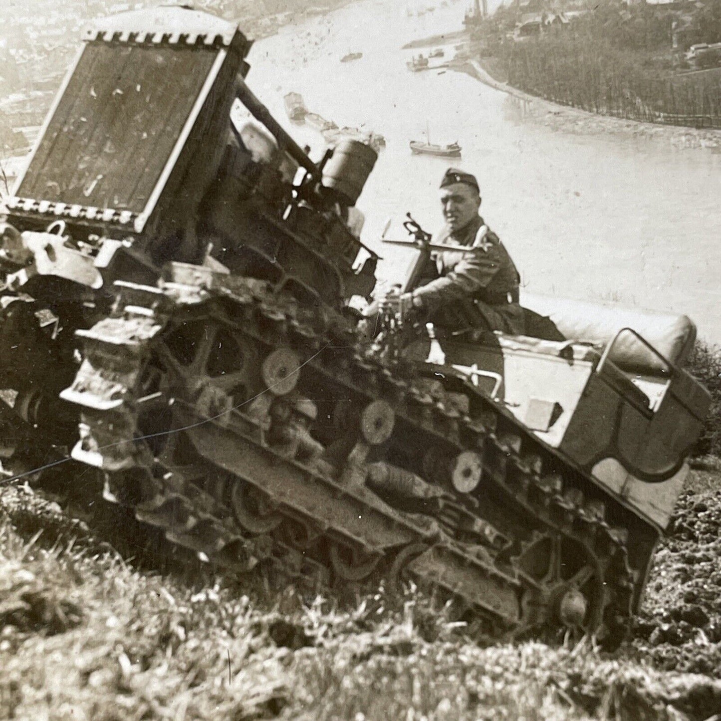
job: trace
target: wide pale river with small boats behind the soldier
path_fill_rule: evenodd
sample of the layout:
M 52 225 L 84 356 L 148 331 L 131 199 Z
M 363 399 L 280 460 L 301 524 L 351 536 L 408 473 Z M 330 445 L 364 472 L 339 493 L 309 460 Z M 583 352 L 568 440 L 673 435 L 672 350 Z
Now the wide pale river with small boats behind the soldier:
M 249 56 L 249 84 L 281 120 L 294 90 L 324 118 L 386 137 L 358 202 L 363 239 L 384 257 L 379 275 L 399 278 L 407 260 L 379 244 L 389 216 L 441 223 L 436 193 L 449 161 L 408 146 L 428 127 L 431 141 L 461 144 L 463 159 L 450 163 L 477 175 L 482 214 L 526 288 L 683 312 L 700 337 L 721 343 L 721 154 L 678 149 L 663 134 L 559 131 L 466 74 L 408 71 L 403 45 L 461 27 L 466 3 L 439 4 L 418 17 L 430 2 L 363 0 L 288 26 Z M 363 57 L 340 63 L 352 51 Z M 285 125 L 322 152 L 319 133 Z

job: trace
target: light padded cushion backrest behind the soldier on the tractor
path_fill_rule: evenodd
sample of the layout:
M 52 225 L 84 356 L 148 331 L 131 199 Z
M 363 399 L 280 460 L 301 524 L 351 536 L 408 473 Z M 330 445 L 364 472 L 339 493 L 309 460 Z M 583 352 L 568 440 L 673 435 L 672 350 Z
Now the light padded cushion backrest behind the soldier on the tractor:
M 619 330 L 631 328 L 674 366 L 684 366 L 696 341 L 696 326 L 685 315 L 525 291 L 521 293 L 521 306 L 526 311 L 526 335 L 606 346 Z M 666 370 L 663 361 L 632 333 L 616 340 L 609 360 L 636 375 L 659 376 Z

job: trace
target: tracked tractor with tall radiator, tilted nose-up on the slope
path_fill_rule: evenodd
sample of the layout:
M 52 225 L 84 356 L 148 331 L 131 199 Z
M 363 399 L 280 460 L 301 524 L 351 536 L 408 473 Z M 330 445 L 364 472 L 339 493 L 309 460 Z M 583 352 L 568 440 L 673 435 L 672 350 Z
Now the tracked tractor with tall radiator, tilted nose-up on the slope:
M 556 340 L 393 319 L 364 340 L 376 153 L 313 162 L 249 89 L 249 48 L 183 7 L 84 35 L 7 202 L 4 327 L 33 328 L 28 363 L 49 349 L 33 388 L 76 422 L 37 443 L 229 572 L 412 580 L 490 632 L 618 640 L 708 405 L 681 368 L 693 326 L 536 299 Z

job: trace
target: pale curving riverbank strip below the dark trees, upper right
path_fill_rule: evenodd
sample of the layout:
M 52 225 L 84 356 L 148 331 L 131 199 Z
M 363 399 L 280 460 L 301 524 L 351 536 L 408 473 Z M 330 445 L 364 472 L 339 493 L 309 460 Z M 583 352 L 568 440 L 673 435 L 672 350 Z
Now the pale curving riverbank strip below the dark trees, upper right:
M 559 105 L 495 79 L 485 58 L 451 63 L 451 68 L 466 72 L 482 83 L 507 93 L 518 100 L 524 117 L 557 131 L 579 135 L 617 133 L 637 138 L 653 138 L 677 148 L 709 148 L 721 152 L 721 131 L 686 128 L 680 125 L 658 125 L 639 120 L 624 120 L 611 115 L 598 115 L 570 105 Z

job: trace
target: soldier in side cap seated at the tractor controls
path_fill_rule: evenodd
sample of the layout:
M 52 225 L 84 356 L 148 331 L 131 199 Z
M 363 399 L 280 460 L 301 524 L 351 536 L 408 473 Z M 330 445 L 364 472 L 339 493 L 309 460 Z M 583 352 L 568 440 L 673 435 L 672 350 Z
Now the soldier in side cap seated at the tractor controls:
M 415 314 L 450 332 L 485 329 L 524 332 L 518 304 L 519 276 L 498 236 L 479 216 L 481 197 L 472 174 L 448 168 L 441 181 L 446 225 L 433 243 L 464 245 L 468 251 L 434 251 L 410 293 L 389 293 L 381 305 Z

